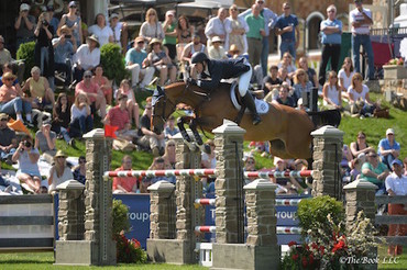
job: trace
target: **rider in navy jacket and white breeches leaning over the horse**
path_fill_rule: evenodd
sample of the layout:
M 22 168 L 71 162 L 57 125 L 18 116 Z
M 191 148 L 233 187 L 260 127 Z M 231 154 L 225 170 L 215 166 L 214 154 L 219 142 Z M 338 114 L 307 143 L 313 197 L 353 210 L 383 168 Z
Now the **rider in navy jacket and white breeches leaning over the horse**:
M 202 79 L 210 77 L 210 80 L 195 80 L 188 78 L 190 85 L 198 86 L 211 91 L 219 86 L 221 79 L 239 78 L 239 94 L 243 103 L 248 106 L 253 117 L 253 125 L 257 125 L 262 120 L 258 116 L 253 97 L 248 92 L 252 67 L 245 58 L 211 60 L 202 52 L 197 52 L 191 57 L 191 64 Z

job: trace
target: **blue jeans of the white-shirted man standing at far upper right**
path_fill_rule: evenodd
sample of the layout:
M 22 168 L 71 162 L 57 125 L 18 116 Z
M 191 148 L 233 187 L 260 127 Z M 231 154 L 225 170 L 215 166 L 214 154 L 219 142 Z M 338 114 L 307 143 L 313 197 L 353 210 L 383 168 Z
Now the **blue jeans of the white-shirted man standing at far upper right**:
M 352 54 L 353 54 L 353 65 L 356 72 L 361 72 L 360 63 L 360 48 L 363 46 L 367 54 L 367 72 L 366 78 L 374 79 L 374 56 L 373 47 L 370 35 L 352 35 Z

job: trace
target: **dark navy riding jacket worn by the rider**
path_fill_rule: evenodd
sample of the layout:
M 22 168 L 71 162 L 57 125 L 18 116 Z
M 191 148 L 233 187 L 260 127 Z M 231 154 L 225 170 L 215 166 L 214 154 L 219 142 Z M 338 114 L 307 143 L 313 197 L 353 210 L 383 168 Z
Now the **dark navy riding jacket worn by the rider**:
M 221 79 L 237 78 L 250 70 L 250 64 L 244 63 L 244 58 L 208 60 L 209 75 L 202 72 L 202 78 L 210 77 L 210 80 L 201 80 L 200 87 L 205 90 L 213 90 Z

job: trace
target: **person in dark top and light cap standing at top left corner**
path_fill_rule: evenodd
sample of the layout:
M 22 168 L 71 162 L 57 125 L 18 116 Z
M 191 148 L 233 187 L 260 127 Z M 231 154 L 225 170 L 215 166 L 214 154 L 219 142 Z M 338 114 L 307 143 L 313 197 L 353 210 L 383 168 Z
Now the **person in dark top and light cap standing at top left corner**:
M 20 13 L 19 16 L 15 19 L 14 29 L 16 35 L 16 49 L 19 49 L 20 45 L 23 43 L 34 41 L 34 26 L 35 26 L 35 18 L 29 15 L 30 5 L 26 3 L 22 3 L 20 5 Z

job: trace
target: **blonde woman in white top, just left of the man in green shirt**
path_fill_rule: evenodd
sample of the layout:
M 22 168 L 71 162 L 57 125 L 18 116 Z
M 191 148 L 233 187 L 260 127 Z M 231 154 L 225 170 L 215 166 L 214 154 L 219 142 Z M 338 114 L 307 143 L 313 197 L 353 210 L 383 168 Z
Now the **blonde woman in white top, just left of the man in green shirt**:
M 139 36 L 142 36 L 147 43 L 153 41 L 153 38 L 164 40 L 163 25 L 158 21 L 155 9 L 150 8 L 145 13 L 145 22 L 140 27 Z

